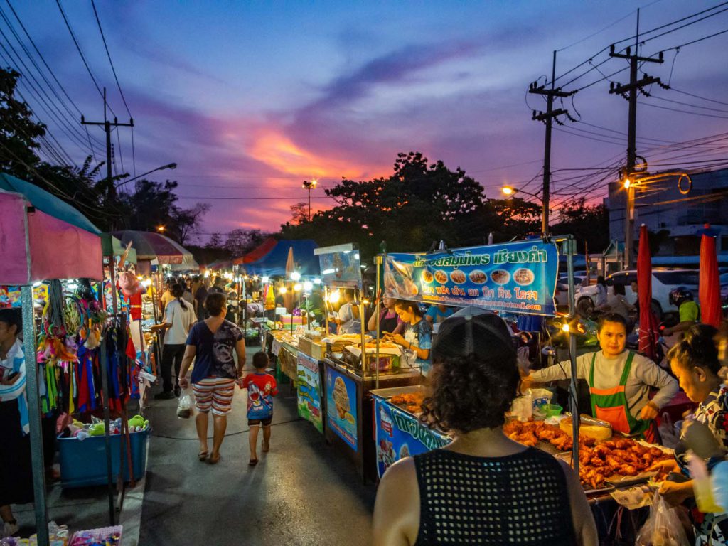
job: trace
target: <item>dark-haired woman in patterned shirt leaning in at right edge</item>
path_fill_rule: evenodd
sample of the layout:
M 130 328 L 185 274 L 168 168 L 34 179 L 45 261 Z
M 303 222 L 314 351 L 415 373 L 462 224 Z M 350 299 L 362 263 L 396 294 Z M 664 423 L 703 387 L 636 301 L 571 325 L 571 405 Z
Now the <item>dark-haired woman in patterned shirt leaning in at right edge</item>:
M 716 329 L 709 325 L 696 325 L 687 331 L 684 339 L 668 352 L 670 368 L 677 377 L 687 397 L 698 403 L 694 419 L 705 424 L 728 452 L 728 387 L 721 385 L 718 372 L 721 368 L 715 341 Z M 681 442 L 682 444 L 682 442 Z M 676 448 L 676 460 L 668 467 L 658 464 L 665 472 L 686 473 L 684 465 L 678 465 L 684 448 Z M 668 463 L 670 463 L 668 462 Z M 695 496 L 692 480 L 665 480 L 660 494 L 672 505 L 680 505 Z M 728 518 L 725 515 L 702 514 L 694 510 L 695 544 L 724 545 L 728 537 Z

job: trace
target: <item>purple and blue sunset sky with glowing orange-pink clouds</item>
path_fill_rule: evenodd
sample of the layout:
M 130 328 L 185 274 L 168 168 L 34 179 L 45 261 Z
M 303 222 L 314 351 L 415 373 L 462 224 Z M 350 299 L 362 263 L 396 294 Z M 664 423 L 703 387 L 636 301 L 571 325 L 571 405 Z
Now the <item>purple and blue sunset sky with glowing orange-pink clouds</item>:
M 101 119 L 102 100 L 55 1 L 11 4 L 76 105 L 87 119 Z M 97 82 L 108 87 L 111 108 L 127 121 L 90 1 L 61 4 Z M 316 177 L 321 188 L 341 177 L 387 175 L 400 151 L 422 151 L 430 160 L 462 167 L 488 196 L 497 196 L 505 183 L 522 186 L 542 168 L 544 139 L 543 125 L 531 121 L 531 109 L 545 108 L 544 101 L 526 91 L 529 82 L 550 78 L 553 50 L 565 48 L 558 53 L 558 76 L 633 36 L 637 7 L 641 31 L 649 31 L 717 4 L 96 0 L 135 120 L 136 172 L 178 163 L 177 170 L 151 178 L 177 180 L 183 206 L 210 203 L 199 240 L 237 227 L 277 231 L 290 218 L 290 206 L 306 200 L 302 181 Z M 8 4 L 1 7 L 30 50 Z M 725 101 L 655 86 L 652 97 L 641 98 L 654 106 L 638 108 L 638 148 L 648 160 L 668 143 L 728 130 L 728 33 L 678 54 L 669 50 L 727 30 L 725 9 L 644 44 L 642 55 L 665 50 L 664 64 L 643 67 L 648 74 L 669 80 L 676 90 Z M 20 51 L 7 21 L 0 28 L 7 36 L 0 36 L 3 44 Z M 6 51 L 2 55 L 4 66 L 15 66 Z M 607 58 L 608 51 L 601 52 L 593 63 Z M 583 87 L 626 66 L 608 60 L 569 84 L 590 68 L 586 63 L 557 84 Z M 625 83 L 628 71 L 611 79 Z M 604 80 L 579 91 L 573 104 L 564 100 L 563 108 L 584 123 L 563 119 L 566 125 L 554 132 L 557 197 L 574 173 L 583 174 L 564 169 L 614 165 L 623 157 L 627 103 L 608 90 Z M 88 149 L 69 140 L 30 90 L 21 91 L 68 154 L 82 162 Z M 103 141 L 99 129 L 93 135 Z M 119 140 L 117 170 L 131 173 L 130 130 L 119 130 Z M 606 194 L 606 182 L 577 187 L 590 199 Z M 537 191 L 537 181 L 529 188 Z M 323 189 L 313 196 L 314 207 L 332 204 Z

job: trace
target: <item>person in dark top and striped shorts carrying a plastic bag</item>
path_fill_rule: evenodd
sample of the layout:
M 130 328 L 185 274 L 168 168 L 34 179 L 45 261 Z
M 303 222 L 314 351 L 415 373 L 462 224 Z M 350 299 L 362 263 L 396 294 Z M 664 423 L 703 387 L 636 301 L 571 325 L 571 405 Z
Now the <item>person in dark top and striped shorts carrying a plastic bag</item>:
M 189 387 L 187 371 L 195 360 L 192 370 L 199 438 L 200 461 L 215 464 L 220 460 L 220 446 L 225 438 L 227 414 L 235 390 L 235 381 L 242 377 L 245 365 L 245 338 L 237 325 L 225 320 L 225 294 L 210 293 L 205 309 L 210 315 L 194 325 L 187 338 L 187 347 L 179 374 L 180 387 Z M 235 356 L 237 355 L 237 363 Z M 213 450 L 207 446 L 207 414 L 213 412 Z

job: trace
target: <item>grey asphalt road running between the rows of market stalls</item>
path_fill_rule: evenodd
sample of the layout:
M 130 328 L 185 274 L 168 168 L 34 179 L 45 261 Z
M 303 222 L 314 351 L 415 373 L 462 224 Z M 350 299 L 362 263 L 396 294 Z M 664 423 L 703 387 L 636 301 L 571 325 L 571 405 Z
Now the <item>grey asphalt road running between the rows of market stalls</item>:
M 245 391 L 235 390 L 221 461 L 197 460 L 192 420 L 176 400 L 149 408 L 149 448 L 140 545 L 367 545 L 375 486 L 298 419 L 288 385 L 274 401 L 271 451 L 248 466 Z M 210 424 L 210 435 L 212 427 Z M 259 440 L 260 441 L 260 440 Z M 211 445 L 211 443 L 210 443 Z

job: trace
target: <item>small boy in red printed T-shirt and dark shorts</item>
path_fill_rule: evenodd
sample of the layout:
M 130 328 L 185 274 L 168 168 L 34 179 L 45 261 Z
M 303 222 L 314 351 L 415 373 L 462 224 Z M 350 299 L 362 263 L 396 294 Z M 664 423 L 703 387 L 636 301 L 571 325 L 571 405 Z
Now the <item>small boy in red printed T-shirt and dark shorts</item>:
M 253 355 L 253 366 L 256 371 L 248 373 L 242 380 L 242 388 L 248 389 L 248 427 L 250 435 L 250 461 L 251 467 L 258 464 L 256 447 L 258 444 L 258 431 L 263 427 L 263 452 L 270 450 L 271 423 L 273 421 L 273 397 L 278 394 L 275 378 L 266 373 L 269 365 L 268 355 L 256 352 Z

